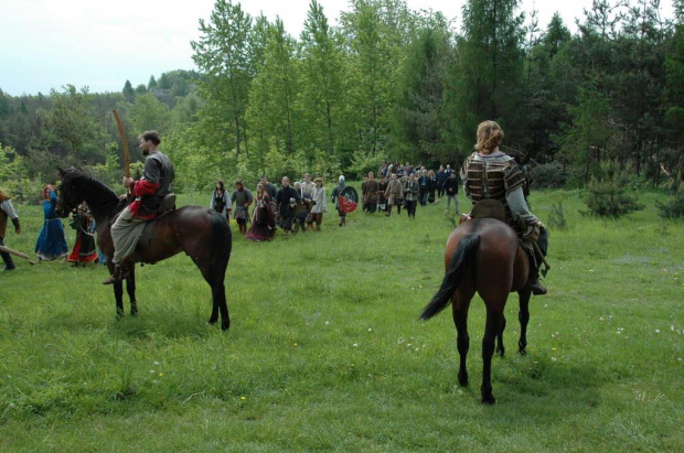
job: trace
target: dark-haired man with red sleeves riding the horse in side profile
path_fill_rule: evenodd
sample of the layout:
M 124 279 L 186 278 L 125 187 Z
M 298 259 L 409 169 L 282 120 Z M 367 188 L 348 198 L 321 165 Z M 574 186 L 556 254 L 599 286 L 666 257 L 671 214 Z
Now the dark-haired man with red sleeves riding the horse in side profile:
M 167 154 L 158 150 L 159 133 L 142 132 L 139 137 L 140 149 L 147 157 L 145 170 L 139 181 L 124 177 L 124 186 L 130 190 L 136 199 L 126 206 L 111 225 L 114 241 L 114 273 L 103 284 L 111 284 L 128 277 L 124 261 L 133 254 L 146 222 L 153 219 L 160 212 L 164 196 L 171 193 L 173 165 Z

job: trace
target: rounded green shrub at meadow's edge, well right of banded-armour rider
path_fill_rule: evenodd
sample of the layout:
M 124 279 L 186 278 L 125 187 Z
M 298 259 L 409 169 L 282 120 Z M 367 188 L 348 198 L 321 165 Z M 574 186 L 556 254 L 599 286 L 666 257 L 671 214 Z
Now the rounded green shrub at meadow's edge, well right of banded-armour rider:
M 618 218 L 643 209 L 635 194 L 628 192 L 629 172 L 616 161 L 605 161 L 587 185 L 587 215 Z

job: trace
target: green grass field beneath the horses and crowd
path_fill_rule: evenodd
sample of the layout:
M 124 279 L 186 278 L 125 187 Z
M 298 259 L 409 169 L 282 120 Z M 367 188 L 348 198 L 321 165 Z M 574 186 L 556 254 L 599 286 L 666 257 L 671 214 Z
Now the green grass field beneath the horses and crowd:
M 551 230 L 526 356 L 509 300 L 493 407 L 482 303 L 468 388 L 450 314 L 417 320 L 442 278 L 443 199 L 415 222 L 354 213 L 340 228 L 329 213 L 288 241 L 235 236 L 228 332 L 206 324 L 185 256 L 139 269 L 140 313 L 120 322 L 103 267 L 17 259 L 0 276 L 0 450 L 683 451 L 684 223 L 658 218 L 662 196 L 606 222 L 578 214 L 580 192 L 533 193 L 543 220 L 562 201 L 569 228 Z M 6 241 L 29 252 L 42 214 L 18 207 L 23 233 Z

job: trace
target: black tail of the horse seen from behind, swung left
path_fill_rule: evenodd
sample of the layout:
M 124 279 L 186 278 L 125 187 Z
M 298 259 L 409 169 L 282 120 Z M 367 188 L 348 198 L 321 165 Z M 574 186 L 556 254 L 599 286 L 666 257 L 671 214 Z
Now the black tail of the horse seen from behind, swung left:
M 453 293 L 461 284 L 463 274 L 468 270 L 469 265 L 473 261 L 479 246 L 480 235 L 474 231 L 461 238 L 449 261 L 449 267 L 441 281 L 439 291 L 437 291 L 432 300 L 423 309 L 423 313 L 420 314 L 421 320 L 429 320 L 449 305 Z

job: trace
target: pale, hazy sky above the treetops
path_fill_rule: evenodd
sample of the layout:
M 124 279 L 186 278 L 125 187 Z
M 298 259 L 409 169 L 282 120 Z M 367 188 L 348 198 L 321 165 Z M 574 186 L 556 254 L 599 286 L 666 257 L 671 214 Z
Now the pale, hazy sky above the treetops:
M 293 36 L 302 30 L 310 0 L 234 0 L 253 17 L 280 17 Z M 460 30 L 466 0 L 406 0 L 414 10 L 441 11 Z M 671 0 L 661 17 L 673 18 Z M 331 24 L 348 0 L 319 0 Z M 126 80 L 147 84 L 150 76 L 196 69 L 191 41 L 200 37 L 200 19 L 209 20 L 214 0 L 2 0 L 0 17 L 0 89 L 11 96 L 50 94 L 71 84 L 90 93 L 119 91 Z M 538 11 L 544 30 L 558 11 L 566 26 L 591 0 L 522 0 L 526 15 Z

